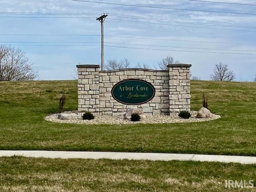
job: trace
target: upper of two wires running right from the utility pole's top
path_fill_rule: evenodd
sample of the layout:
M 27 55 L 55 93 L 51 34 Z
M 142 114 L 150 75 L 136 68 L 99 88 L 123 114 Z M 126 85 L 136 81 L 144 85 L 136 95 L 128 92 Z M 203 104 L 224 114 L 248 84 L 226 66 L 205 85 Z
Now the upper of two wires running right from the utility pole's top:
M 113 16 L 118 16 L 118 17 L 125 17 L 125 18 L 156 20 L 156 21 L 176 22 L 176 23 L 185 23 L 185 24 L 198 24 L 198 25 L 209 25 L 209 26 L 224 26 L 224 27 L 236 27 L 236 28 L 256 28 L 256 27 L 253 27 L 253 26 L 239 26 L 239 25 L 227 25 L 227 24 L 189 22 L 189 21 L 182 21 L 182 20 L 168 20 L 168 19 L 159 19 L 159 18 L 152 18 L 152 17 L 141 17 L 141 16 L 131 16 L 131 15 L 113 14 L 113 13 L 111 13 L 110 16 L 112 16 L 112 15 Z

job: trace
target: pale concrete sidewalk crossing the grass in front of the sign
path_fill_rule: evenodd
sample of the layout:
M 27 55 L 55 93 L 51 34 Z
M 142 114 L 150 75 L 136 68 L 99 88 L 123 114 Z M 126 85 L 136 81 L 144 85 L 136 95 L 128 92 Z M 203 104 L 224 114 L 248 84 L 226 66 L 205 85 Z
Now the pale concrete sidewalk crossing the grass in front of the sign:
M 125 152 L 76 152 L 76 151 L 11 151 L 0 150 L 0 156 L 25 156 L 42 158 L 82 158 L 82 159 L 128 159 L 128 160 L 181 160 L 256 164 L 256 157 L 226 156 L 226 155 L 198 155 L 198 154 L 170 154 L 170 153 L 125 153 Z

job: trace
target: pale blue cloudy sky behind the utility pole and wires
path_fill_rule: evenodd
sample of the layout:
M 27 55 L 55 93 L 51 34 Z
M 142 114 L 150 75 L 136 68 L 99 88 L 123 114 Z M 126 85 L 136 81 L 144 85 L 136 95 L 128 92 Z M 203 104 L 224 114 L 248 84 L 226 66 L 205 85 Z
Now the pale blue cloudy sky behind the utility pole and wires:
M 103 1 L 103 0 L 102 0 Z M 222 2 L 238 2 L 254 4 L 254 0 L 216 0 Z M 214 10 L 222 12 L 242 12 L 255 14 L 256 6 L 242 6 L 232 4 L 218 4 L 206 2 L 193 2 L 188 0 L 106 0 L 103 2 L 136 4 L 146 6 L 159 6 L 182 9 Z M 3 16 L 28 16 L 31 15 L 0 15 L 0 34 L 70 34 L 70 35 L 100 35 L 100 23 L 96 17 L 100 13 L 108 13 L 104 22 L 105 42 L 146 44 L 189 48 L 210 48 L 230 50 L 254 50 L 256 51 L 255 32 L 218 30 L 208 28 L 225 28 L 236 30 L 256 31 L 256 15 L 224 14 L 210 12 L 195 12 L 182 10 L 164 10 L 156 8 L 141 8 L 129 6 L 114 6 L 108 4 L 95 4 L 88 2 L 76 2 L 71 0 L 0 0 L 0 12 L 76 12 L 99 13 L 95 15 L 80 15 L 93 18 L 5 18 Z M 113 14 L 159 18 L 166 20 L 180 20 L 188 22 L 200 22 L 211 24 L 225 24 L 235 26 L 251 26 L 255 28 L 232 28 L 225 26 L 205 26 L 196 24 L 182 24 L 175 22 L 140 20 L 117 17 Z M 40 15 L 34 15 L 40 16 Z M 49 16 L 49 15 L 48 15 Z M 47 16 L 46 16 L 47 17 Z M 57 17 L 57 16 L 56 16 Z M 140 22 L 128 22 L 121 20 L 134 20 L 140 22 L 162 23 L 170 25 L 149 24 Z M 174 26 L 183 25 L 183 26 Z M 184 27 L 190 26 L 190 27 Z M 149 40 L 133 38 L 117 38 L 109 36 L 129 36 L 142 38 L 158 38 L 170 40 Z M 176 41 L 171 41 L 176 40 Z M 183 40 L 183 41 L 180 41 Z M 242 44 L 226 43 L 200 43 L 185 42 L 239 42 Z M 1 42 L 100 42 L 100 36 L 8 36 L 0 35 Z M 247 44 L 246 44 L 247 43 Z M 252 44 L 252 45 L 248 45 Z M 74 79 L 76 64 L 100 64 L 100 46 L 21 46 L 33 43 L 2 43 L 19 45 L 26 52 L 26 56 L 34 63 L 42 80 Z M 34 43 L 45 45 L 47 43 Z M 48 43 L 50 44 L 50 43 Z M 52 43 L 54 45 L 61 43 Z M 62 43 L 74 45 L 79 43 Z M 82 45 L 100 45 L 100 43 L 80 43 Z M 254 44 L 254 45 L 253 45 Z M 111 46 L 126 46 L 137 48 L 155 48 L 167 50 L 189 50 L 208 52 L 236 52 L 252 53 L 248 51 L 228 50 L 199 50 L 189 48 L 137 46 L 125 44 L 109 44 Z M 236 74 L 236 81 L 252 81 L 256 75 L 256 55 L 219 54 L 219 53 L 194 53 L 163 50 L 136 50 L 128 48 L 105 47 L 105 61 L 110 59 L 128 58 L 131 67 L 137 63 L 148 64 L 151 68 L 166 56 L 173 56 L 181 63 L 192 64 L 192 75 L 199 76 L 202 80 L 208 80 L 216 62 L 228 64 Z

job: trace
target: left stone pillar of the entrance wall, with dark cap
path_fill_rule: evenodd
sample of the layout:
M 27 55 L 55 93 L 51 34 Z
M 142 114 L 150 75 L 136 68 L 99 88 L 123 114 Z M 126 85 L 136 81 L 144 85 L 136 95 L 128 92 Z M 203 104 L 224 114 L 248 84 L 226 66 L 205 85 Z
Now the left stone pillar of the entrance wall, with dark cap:
M 99 115 L 99 65 L 77 65 L 78 118 L 84 112 Z

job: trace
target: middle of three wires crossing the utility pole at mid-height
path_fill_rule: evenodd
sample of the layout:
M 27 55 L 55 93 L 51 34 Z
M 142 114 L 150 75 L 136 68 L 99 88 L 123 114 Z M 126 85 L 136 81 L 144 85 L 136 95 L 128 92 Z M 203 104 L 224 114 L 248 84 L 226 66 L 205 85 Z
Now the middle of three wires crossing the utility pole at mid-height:
M 10 42 L 10 41 L 2 41 L 0 43 L 101 43 L 101 42 L 56 42 L 56 41 L 50 41 L 50 42 L 42 42 L 42 41 L 33 41 L 33 42 L 24 42 L 24 41 L 16 41 L 16 42 Z M 181 47 L 181 46 L 164 46 L 164 45 L 149 45 L 149 44 L 132 44 L 132 43 L 120 43 L 120 42 L 105 42 L 108 44 L 124 44 L 124 45 L 136 45 L 136 46 L 152 46 L 152 47 L 172 47 L 172 48 L 182 48 L 182 49 L 198 49 L 198 50 L 222 50 L 222 51 L 248 51 L 248 52 L 256 52 L 256 50 L 234 50 L 234 49 L 217 49 L 217 48 L 195 48 L 195 47 Z

